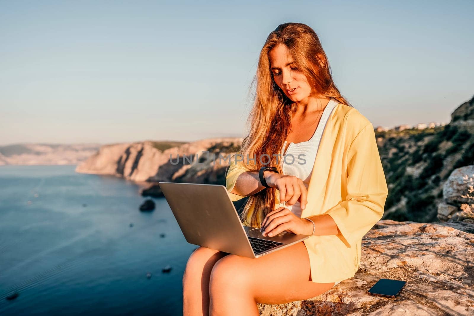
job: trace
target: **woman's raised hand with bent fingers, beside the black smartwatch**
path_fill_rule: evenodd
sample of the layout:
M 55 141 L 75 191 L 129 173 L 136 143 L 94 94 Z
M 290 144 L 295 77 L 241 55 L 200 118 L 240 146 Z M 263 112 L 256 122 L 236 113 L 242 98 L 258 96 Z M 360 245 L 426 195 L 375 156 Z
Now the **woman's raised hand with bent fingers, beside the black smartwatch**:
M 306 208 L 308 190 L 300 178 L 271 171 L 265 171 L 264 177 L 270 187 L 280 192 L 280 202 L 286 201 L 286 205 L 293 205 L 300 201 L 301 209 Z

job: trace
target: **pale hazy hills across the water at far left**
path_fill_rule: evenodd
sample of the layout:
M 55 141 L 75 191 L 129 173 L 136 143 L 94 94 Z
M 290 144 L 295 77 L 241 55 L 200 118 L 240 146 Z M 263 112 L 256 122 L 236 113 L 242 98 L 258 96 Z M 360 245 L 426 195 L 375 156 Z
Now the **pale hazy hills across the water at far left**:
M 99 150 L 100 144 L 11 144 L 0 146 L 0 165 L 77 164 Z

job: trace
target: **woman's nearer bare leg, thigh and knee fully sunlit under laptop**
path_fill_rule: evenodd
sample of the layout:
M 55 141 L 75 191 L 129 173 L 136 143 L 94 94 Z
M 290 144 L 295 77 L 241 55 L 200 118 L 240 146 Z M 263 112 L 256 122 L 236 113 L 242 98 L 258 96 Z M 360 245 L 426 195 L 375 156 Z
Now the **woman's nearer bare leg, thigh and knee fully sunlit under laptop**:
M 310 280 L 310 261 L 303 242 L 256 259 L 229 254 L 211 271 L 210 315 L 259 315 L 256 303 L 308 299 L 333 285 Z

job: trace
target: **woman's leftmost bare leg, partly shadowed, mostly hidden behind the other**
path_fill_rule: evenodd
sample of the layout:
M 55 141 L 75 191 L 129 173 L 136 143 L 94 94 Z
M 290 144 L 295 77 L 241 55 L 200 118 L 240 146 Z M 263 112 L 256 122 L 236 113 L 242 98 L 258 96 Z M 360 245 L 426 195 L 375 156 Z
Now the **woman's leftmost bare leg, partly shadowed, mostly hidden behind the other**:
M 214 264 L 228 253 L 206 247 L 195 249 L 182 277 L 183 315 L 209 315 L 209 278 Z

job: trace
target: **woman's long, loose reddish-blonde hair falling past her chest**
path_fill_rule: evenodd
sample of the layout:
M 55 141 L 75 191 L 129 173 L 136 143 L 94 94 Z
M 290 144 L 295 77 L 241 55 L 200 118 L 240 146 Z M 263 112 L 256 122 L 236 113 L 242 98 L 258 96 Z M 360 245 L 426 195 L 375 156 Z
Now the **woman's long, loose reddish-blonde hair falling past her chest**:
M 352 107 L 340 94 L 331 76 L 328 58 L 314 30 L 302 23 L 280 24 L 267 37 L 258 59 L 255 100 L 247 119 L 249 134 L 240 149 L 246 168 L 258 171 L 263 166 L 276 166 L 282 173 L 277 157 L 291 128 L 291 117 L 297 106 L 273 81 L 270 71 L 269 52 L 277 45 L 285 45 L 293 57 L 296 67 L 306 75 L 311 95 L 336 99 Z M 255 158 L 250 160 L 247 158 Z M 280 160 L 278 160 L 280 161 Z M 269 163 L 268 163 L 269 162 Z M 274 209 L 275 188 L 261 190 L 251 196 L 240 215 L 245 225 L 260 227 L 263 218 Z M 250 223 L 246 223 L 250 206 L 255 205 Z

